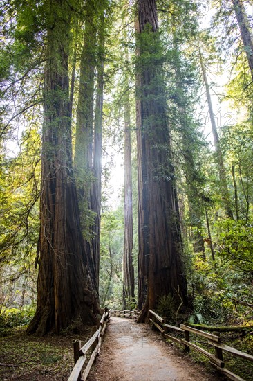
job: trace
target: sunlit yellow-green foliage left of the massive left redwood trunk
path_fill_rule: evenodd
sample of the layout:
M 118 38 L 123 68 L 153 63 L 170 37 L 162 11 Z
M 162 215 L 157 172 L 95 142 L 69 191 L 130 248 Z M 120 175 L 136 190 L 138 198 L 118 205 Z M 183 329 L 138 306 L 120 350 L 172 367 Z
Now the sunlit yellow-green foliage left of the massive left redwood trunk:
M 1 157 L 0 310 L 22 307 L 35 298 L 39 144 L 39 134 L 31 128 L 22 134 L 16 157 Z

